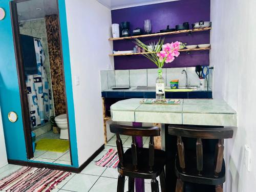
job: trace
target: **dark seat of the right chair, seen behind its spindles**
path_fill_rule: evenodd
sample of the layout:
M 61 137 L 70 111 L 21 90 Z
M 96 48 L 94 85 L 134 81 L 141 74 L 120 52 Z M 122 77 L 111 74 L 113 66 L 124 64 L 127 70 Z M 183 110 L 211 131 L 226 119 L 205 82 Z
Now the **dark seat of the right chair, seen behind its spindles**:
M 215 154 L 209 153 L 203 156 L 203 170 L 201 175 L 197 170 L 197 156 L 195 151 L 185 152 L 185 173 L 182 172 L 180 167 L 179 158 L 176 156 L 176 175 L 182 181 L 206 184 L 206 185 L 220 185 L 225 182 L 225 161 L 223 159 L 221 172 L 218 177 L 215 177 Z

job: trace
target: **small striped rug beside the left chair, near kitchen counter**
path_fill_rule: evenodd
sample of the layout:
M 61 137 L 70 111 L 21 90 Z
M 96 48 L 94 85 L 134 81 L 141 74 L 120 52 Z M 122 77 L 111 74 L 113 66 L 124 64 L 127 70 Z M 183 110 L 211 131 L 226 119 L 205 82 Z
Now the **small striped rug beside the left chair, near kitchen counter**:
M 112 167 L 116 168 L 119 163 L 117 150 L 111 148 L 103 157 L 98 161 L 95 161 L 96 165 L 101 167 Z

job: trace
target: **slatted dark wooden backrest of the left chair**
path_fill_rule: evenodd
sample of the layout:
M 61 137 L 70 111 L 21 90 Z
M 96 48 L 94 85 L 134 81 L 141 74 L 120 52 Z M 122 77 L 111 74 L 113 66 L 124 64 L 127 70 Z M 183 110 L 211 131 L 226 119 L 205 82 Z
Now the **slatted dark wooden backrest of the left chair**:
M 150 167 L 150 171 L 152 171 L 152 168 L 154 166 L 154 150 L 155 150 L 155 144 L 154 144 L 154 137 L 160 136 L 160 128 L 159 127 L 150 127 L 150 126 L 126 126 L 126 125 L 119 125 L 119 124 L 111 124 L 110 125 L 110 131 L 112 133 L 116 134 L 116 145 L 117 145 L 117 151 L 118 151 L 118 157 L 119 162 L 122 167 L 124 167 L 124 159 L 123 159 L 123 144 L 122 140 L 120 138 L 121 135 L 127 135 L 132 136 L 132 159 L 133 159 L 133 165 L 135 169 L 137 169 L 138 165 L 138 150 L 137 150 L 137 144 L 135 140 L 135 136 L 141 136 L 141 137 L 150 137 L 150 144 L 148 146 L 148 166 Z

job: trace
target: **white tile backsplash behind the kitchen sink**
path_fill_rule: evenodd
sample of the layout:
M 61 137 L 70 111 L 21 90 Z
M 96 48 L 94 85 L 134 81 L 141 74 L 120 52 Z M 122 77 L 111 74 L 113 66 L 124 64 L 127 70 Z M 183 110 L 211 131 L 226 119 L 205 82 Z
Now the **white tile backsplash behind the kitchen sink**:
M 199 78 L 195 72 L 195 67 L 163 69 L 163 77 L 166 81 L 166 86 L 168 87 L 169 81 L 173 79 L 179 79 L 179 86 L 185 86 L 186 75 L 181 74 L 184 69 L 187 71 L 188 86 L 199 86 Z M 209 87 L 212 87 L 212 73 L 213 70 L 209 70 Z M 104 70 L 100 72 L 101 90 L 129 85 L 155 87 L 157 74 L 158 69 Z

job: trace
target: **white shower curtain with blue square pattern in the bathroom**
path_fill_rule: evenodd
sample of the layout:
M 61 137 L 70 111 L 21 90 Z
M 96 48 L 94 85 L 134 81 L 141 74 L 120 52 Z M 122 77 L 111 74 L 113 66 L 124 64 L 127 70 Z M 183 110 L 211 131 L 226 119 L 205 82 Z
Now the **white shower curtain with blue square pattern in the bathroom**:
M 31 127 L 42 125 L 50 120 L 52 97 L 45 67 L 45 52 L 40 40 L 34 39 L 37 74 L 27 75 L 26 85 L 30 111 Z

